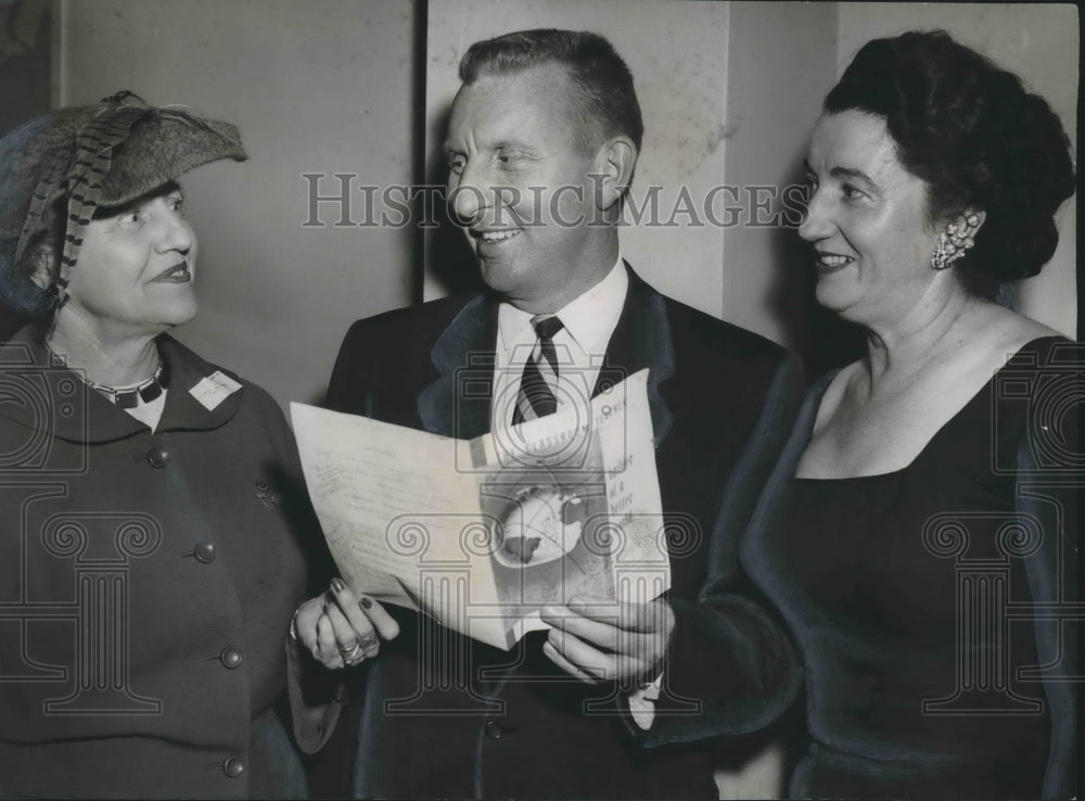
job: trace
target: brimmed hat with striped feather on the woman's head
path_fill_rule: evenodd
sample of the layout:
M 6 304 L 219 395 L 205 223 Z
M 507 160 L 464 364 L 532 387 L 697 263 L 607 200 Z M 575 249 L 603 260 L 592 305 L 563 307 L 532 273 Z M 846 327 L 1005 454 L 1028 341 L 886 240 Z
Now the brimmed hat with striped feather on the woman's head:
M 127 91 L 11 131 L 0 139 L 0 300 L 21 315 L 59 307 L 98 208 L 220 158 L 247 158 L 234 126 Z

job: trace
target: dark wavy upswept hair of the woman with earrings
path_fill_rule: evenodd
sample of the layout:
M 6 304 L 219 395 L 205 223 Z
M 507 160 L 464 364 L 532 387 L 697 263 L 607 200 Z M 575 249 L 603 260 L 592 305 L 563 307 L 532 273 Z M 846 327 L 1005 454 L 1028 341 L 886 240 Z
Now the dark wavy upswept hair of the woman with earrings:
M 1054 215 L 1074 192 L 1070 141 L 1021 79 L 945 31 L 867 42 L 825 100 L 826 112 L 885 118 L 897 155 L 929 187 L 932 221 L 966 207 L 987 219 L 957 263 L 972 293 L 1039 272 L 1058 244 Z

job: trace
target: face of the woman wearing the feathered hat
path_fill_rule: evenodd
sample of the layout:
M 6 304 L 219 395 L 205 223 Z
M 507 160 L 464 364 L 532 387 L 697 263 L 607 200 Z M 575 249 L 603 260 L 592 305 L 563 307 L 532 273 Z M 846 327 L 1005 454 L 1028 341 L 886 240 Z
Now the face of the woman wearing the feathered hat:
M 117 333 L 159 332 L 196 314 L 196 238 L 176 185 L 87 226 L 68 305 Z

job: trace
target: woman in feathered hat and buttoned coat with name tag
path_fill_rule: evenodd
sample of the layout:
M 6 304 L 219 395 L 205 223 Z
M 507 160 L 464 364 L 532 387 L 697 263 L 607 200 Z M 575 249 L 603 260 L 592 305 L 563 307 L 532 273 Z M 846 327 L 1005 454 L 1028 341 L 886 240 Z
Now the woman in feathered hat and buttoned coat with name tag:
M 166 333 L 196 313 L 175 179 L 245 157 L 127 92 L 0 140 L 0 300 L 33 320 L 0 347 L 0 796 L 305 792 L 277 708 L 322 545 L 293 440 Z

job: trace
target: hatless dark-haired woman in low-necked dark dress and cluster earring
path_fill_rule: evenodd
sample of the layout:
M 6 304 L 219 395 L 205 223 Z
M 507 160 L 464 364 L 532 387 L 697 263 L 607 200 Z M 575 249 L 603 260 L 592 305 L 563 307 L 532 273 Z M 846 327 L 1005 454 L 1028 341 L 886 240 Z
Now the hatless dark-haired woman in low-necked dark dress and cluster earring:
M 817 298 L 867 354 L 810 390 L 744 545 L 805 660 L 790 794 L 1069 797 L 1082 355 L 994 301 L 1055 251 L 1065 134 L 909 33 L 856 55 L 807 170 Z

